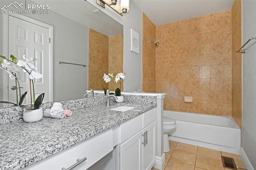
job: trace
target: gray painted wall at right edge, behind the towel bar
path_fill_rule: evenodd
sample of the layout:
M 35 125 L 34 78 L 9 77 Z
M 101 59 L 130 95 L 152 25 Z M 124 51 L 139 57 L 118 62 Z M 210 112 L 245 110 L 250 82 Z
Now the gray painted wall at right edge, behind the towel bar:
M 256 1 L 242 0 L 242 44 L 256 36 Z M 242 148 L 256 169 L 256 41 L 242 55 Z

